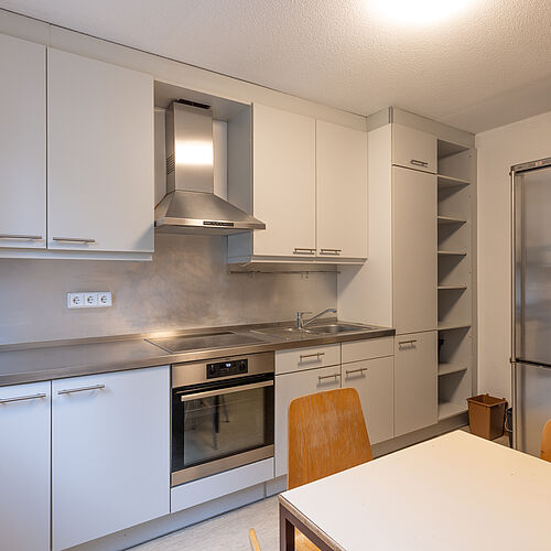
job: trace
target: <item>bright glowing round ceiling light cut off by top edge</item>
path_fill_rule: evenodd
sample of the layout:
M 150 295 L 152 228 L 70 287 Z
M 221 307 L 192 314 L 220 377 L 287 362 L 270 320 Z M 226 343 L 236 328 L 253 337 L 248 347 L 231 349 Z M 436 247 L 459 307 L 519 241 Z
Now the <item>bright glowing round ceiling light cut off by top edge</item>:
M 367 0 L 379 17 L 404 25 L 443 21 L 464 10 L 473 0 Z

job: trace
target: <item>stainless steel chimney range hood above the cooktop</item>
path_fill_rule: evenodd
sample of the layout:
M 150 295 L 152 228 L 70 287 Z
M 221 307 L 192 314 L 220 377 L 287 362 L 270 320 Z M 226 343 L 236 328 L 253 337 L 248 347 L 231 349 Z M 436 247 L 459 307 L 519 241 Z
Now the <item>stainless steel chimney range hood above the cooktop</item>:
M 208 106 L 166 109 L 166 195 L 155 207 L 161 234 L 231 235 L 266 224 L 214 194 L 213 118 Z

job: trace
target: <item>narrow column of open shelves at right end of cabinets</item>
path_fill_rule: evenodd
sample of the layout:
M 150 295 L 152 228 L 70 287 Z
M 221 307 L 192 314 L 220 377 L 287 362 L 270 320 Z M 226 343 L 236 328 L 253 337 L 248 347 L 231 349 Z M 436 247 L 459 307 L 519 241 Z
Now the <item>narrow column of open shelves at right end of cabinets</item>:
M 439 140 L 439 421 L 467 411 L 473 393 L 472 182 L 474 151 Z

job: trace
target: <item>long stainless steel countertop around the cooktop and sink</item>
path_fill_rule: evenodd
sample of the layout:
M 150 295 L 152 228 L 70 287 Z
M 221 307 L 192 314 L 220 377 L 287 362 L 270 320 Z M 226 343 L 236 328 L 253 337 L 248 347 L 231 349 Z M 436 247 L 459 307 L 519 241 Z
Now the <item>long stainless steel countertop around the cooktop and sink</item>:
M 0 386 L 197 361 L 236 354 L 320 346 L 346 341 L 392 336 L 395 334 L 392 328 L 365 326 L 365 329 L 342 334 L 318 335 L 290 332 L 289 336 L 281 336 L 282 332 L 278 329 L 290 326 L 290 323 L 272 323 L 28 343 L 24 345 L 2 345 L 0 346 Z M 276 328 L 276 334 L 270 334 L 269 331 L 273 328 Z M 198 336 L 220 331 L 246 334 L 255 337 L 258 342 L 255 341 L 239 346 L 191 349 L 177 354 L 170 354 L 148 342 L 151 338 Z

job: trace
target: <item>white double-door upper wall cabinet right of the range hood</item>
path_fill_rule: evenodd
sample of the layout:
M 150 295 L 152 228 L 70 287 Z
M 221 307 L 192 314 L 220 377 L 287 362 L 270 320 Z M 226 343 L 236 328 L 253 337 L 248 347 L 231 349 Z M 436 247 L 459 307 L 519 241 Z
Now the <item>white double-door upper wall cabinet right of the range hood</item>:
M 259 104 L 241 128 L 230 141 L 251 140 L 252 177 L 233 177 L 229 152 L 228 199 L 266 230 L 229 236 L 228 262 L 361 263 L 367 133 Z

